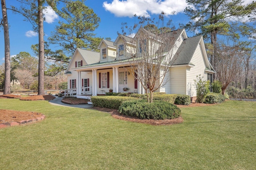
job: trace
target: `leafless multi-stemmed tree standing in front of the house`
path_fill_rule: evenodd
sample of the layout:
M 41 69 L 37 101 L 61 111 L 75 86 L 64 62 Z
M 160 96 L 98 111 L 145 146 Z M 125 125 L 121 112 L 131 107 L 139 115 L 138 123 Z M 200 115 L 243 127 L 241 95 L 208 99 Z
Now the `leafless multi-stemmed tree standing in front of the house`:
M 160 15 L 160 19 L 162 17 Z M 120 59 L 126 59 L 130 63 L 132 75 L 146 90 L 148 102 L 153 102 L 153 92 L 165 85 L 166 74 L 178 57 L 178 45 L 181 43 L 177 36 L 180 30 L 168 29 L 169 32 L 164 31 L 164 33 L 161 33 L 163 29 L 158 29 L 159 33 L 156 29 L 153 30 L 150 32 L 140 27 L 134 38 L 120 36 L 124 41 L 124 56 L 126 56 Z M 122 51 L 119 49 L 120 52 Z M 122 56 L 122 54 L 118 55 Z

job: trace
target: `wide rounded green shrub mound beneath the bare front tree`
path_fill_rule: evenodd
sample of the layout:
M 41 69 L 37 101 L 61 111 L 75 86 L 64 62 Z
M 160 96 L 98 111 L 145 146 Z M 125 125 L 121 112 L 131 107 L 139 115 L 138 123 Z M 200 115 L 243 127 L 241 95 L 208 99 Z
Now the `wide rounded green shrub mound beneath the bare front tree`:
M 169 102 L 129 101 L 123 102 L 119 108 L 122 115 L 138 117 L 139 119 L 174 119 L 180 116 L 180 109 Z

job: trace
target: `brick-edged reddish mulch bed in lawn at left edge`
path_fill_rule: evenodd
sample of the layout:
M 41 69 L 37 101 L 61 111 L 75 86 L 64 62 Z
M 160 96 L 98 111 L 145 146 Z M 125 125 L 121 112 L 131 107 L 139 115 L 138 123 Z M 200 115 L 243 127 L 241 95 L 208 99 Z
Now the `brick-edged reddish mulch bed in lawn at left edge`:
M 36 119 L 41 116 L 42 114 L 37 112 L 0 109 L 0 123 L 11 123 L 14 121 L 19 122 L 28 119 Z

